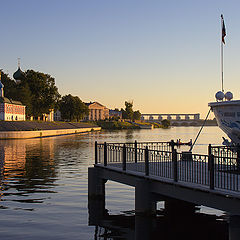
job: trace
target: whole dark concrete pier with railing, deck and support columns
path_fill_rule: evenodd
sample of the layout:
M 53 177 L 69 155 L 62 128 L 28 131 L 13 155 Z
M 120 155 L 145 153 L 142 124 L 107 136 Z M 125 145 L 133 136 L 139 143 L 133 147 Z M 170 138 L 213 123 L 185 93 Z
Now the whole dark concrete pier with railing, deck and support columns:
M 137 144 L 95 144 L 95 165 L 89 168 L 89 201 L 98 201 L 100 215 L 106 213 L 104 184 L 111 180 L 135 187 L 137 240 L 149 239 L 153 232 L 157 201 L 165 201 L 167 219 L 176 226 L 183 216 L 191 222 L 197 206 L 222 210 L 230 216 L 229 240 L 240 238 L 240 174 L 234 165 L 218 161 L 220 157 L 212 151 L 192 154 L 191 161 L 186 161 L 169 142 L 167 150 L 159 150 L 155 143 L 144 143 L 145 148 L 143 143 Z M 89 205 L 89 213 L 93 211 Z

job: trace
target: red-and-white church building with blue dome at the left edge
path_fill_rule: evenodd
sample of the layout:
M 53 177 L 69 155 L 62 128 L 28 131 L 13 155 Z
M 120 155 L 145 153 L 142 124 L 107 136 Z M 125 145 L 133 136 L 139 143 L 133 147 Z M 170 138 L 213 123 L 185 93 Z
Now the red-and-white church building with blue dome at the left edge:
M 25 121 L 25 106 L 19 101 L 4 97 L 3 88 L 0 71 L 0 120 Z

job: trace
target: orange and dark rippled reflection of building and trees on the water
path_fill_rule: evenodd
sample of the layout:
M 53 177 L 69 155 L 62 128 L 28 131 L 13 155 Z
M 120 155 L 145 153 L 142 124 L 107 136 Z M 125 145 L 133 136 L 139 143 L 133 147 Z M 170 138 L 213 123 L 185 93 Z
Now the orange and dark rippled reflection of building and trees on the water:
M 56 178 L 53 140 L 48 144 L 42 139 L 31 144 L 27 140 L 1 141 L 0 152 L 1 201 L 42 203 L 45 198 L 34 198 L 33 193 L 53 192 L 51 187 Z

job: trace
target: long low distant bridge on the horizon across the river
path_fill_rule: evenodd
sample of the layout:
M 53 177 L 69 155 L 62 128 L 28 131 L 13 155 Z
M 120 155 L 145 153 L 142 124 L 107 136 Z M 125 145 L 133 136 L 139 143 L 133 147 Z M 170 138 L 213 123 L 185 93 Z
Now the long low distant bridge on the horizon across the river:
M 164 119 L 170 121 L 198 121 L 200 120 L 199 113 L 177 113 L 177 114 L 163 114 L 163 113 L 144 113 L 141 114 L 141 120 L 145 121 L 162 121 Z

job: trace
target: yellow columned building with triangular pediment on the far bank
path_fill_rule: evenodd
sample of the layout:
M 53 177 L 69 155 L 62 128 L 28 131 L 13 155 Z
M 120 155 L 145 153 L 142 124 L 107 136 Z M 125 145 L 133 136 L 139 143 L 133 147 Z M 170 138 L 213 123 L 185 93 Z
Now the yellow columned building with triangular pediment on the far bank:
M 86 120 L 96 121 L 109 118 L 109 109 L 98 102 L 85 103 L 89 109 L 89 115 Z

